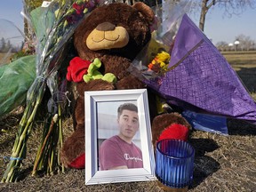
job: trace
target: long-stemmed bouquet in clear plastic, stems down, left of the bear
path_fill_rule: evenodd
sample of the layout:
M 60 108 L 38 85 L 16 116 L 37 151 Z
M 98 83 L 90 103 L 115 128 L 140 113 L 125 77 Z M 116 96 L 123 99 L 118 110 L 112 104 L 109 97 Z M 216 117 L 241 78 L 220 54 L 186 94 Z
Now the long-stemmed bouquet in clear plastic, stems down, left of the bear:
M 42 166 L 47 166 L 47 170 L 50 173 L 53 172 L 52 168 L 56 164 L 56 150 L 61 147 L 62 142 L 61 103 L 63 104 L 66 89 L 65 81 L 59 81 L 58 70 L 65 60 L 68 39 L 72 36 L 79 21 L 99 4 L 100 1 L 98 0 L 53 0 L 48 7 L 37 8 L 34 12 L 30 12 L 31 15 L 28 15 L 32 18 L 32 23 L 34 20 L 38 40 L 36 79 L 28 90 L 27 106 L 20 120 L 19 131 L 2 182 L 12 182 L 18 179 L 22 159 L 26 157 L 28 136 L 46 86 L 49 87 L 52 96 L 56 99 L 57 110 L 53 108 L 51 111 L 52 116 L 49 116 L 50 126 L 45 124 L 43 142 L 38 149 L 33 174 L 36 174 L 36 171 L 40 170 Z M 32 17 L 33 15 L 34 17 Z M 35 18 L 35 15 L 39 17 Z M 36 25 L 36 20 L 38 25 Z M 54 129 L 54 127 L 58 127 L 58 129 Z M 53 138 L 54 135 L 58 135 L 58 137 Z M 46 147 L 47 145 L 50 147 Z M 57 159 L 57 164 L 60 165 L 60 156 Z

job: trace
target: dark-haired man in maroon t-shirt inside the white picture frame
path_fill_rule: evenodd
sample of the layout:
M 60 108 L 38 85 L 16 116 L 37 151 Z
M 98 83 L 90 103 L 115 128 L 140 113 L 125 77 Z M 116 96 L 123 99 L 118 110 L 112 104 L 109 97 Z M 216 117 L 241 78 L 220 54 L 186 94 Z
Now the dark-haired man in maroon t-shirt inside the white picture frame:
M 126 102 L 117 108 L 118 134 L 104 140 L 100 145 L 100 171 L 142 168 L 142 153 L 132 142 L 139 131 L 138 108 Z

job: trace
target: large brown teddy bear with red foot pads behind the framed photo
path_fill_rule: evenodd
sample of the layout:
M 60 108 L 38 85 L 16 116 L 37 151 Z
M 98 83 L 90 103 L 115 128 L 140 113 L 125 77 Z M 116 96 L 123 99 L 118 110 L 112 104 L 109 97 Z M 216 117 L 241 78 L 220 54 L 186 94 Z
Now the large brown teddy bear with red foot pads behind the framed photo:
M 71 60 L 67 79 L 76 82 L 78 98 L 74 111 L 75 132 L 65 140 L 61 149 L 61 161 L 66 166 L 84 168 L 84 91 L 147 88 L 127 68 L 148 44 L 154 18 L 154 12 L 141 2 L 132 6 L 105 4 L 94 9 L 76 28 L 74 44 L 79 57 Z M 176 123 L 173 130 L 177 133 L 174 138 L 186 140 L 190 128 L 188 122 L 176 113 L 156 116 L 155 98 L 155 93 L 148 90 L 150 117 L 154 119 L 153 143 L 156 144 L 163 131 L 164 138 L 173 138 L 170 133 L 173 123 Z M 179 128 L 180 125 L 187 130 Z

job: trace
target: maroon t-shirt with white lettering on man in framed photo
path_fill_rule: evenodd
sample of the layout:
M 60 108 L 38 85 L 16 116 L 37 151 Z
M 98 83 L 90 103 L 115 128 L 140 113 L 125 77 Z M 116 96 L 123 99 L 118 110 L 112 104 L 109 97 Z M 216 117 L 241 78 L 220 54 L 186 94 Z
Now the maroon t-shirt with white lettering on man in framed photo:
M 126 165 L 128 169 L 142 168 L 142 153 L 134 143 L 130 144 L 117 135 L 104 140 L 100 146 L 100 170 Z

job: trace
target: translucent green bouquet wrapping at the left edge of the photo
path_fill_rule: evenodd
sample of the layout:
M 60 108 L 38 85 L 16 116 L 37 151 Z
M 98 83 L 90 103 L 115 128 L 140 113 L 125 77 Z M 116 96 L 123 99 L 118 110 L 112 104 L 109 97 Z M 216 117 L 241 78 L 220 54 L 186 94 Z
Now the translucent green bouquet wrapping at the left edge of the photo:
M 36 56 L 29 55 L 0 67 L 0 116 L 23 104 L 36 77 Z

